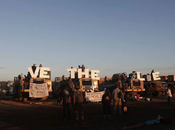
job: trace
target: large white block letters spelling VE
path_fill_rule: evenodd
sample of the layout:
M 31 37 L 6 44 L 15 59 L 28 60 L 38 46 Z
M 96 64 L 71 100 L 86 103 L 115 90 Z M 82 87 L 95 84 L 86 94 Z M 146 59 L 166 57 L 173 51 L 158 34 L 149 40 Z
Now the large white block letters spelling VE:
M 38 76 L 38 72 L 40 71 L 39 73 L 39 77 L 40 78 L 50 78 L 50 75 L 48 74 L 48 71 L 50 71 L 50 68 L 46 68 L 46 67 L 37 67 L 36 70 L 35 70 L 35 73 L 33 72 L 32 68 L 29 67 L 28 68 L 28 71 L 31 75 L 31 77 L 33 78 L 36 78 Z

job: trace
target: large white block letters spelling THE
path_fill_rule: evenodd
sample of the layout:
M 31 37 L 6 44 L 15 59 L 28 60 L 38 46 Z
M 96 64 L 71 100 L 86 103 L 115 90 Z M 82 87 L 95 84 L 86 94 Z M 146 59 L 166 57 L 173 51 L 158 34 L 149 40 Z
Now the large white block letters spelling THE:
M 67 69 L 71 73 L 71 79 L 75 78 L 75 72 L 78 70 L 78 78 L 82 78 L 82 75 L 85 75 L 85 78 L 89 78 L 89 69 L 85 69 L 84 72 L 82 72 L 82 69 Z M 91 70 L 91 78 L 100 80 L 100 77 L 98 77 L 98 73 L 100 73 L 99 70 Z

